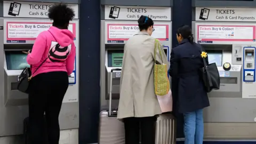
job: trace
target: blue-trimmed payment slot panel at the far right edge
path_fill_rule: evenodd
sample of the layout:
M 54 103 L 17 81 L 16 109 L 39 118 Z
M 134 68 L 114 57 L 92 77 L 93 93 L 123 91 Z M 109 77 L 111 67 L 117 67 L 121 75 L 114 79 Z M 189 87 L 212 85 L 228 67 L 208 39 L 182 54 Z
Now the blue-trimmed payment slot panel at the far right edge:
M 255 82 L 255 47 L 244 47 L 244 82 Z

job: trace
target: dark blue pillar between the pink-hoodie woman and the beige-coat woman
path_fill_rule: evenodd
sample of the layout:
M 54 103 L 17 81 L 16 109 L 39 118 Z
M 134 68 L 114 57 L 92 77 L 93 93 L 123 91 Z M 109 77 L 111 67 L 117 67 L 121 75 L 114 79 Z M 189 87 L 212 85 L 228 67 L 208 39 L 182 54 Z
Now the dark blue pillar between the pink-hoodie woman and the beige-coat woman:
M 97 143 L 100 112 L 100 1 L 81 1 L 79 19 L 79 143 Z

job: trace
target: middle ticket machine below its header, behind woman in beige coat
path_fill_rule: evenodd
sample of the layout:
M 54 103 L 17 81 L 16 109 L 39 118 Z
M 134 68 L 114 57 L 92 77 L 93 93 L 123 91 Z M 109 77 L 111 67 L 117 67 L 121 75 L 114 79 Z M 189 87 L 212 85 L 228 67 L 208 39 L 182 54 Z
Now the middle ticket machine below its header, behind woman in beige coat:
M 152 36 L 159 39 L 164 45 L 167 58 L 170 59 L 171 22 L 154 24 Z M 137 21 L 101 21 L 101 109 L 108 108 L 109 86 L 111 69 L 122 68 L 124 44 L 133 35 L 139 32 Z M 113 72 L 112 104 L 118 106 L 121 72 Z

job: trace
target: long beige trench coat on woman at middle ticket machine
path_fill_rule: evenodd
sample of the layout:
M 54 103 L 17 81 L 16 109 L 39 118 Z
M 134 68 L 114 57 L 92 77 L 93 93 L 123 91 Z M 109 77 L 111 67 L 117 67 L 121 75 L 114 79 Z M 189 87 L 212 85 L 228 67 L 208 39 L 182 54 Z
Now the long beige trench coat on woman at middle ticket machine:
M 154 41 L 155 38 L 139 32 L 124 46 L 118 119 L 162 113 L 154 92 Z M 163 61 L 158 50 L 156 60 L 169 68 L 163 46 L 161 51 Z

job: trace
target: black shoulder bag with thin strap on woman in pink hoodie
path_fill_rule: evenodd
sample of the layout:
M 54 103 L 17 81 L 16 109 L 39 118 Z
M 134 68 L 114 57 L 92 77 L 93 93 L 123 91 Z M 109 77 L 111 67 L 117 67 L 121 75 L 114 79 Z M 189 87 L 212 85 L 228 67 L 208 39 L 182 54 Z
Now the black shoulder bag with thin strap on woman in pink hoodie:
M 53 46 L 54 47 L 54 46 Z M 52 48 L 53 48 L 52 47 Z M 50 50 L 52 50 L 52 48 Z M 55 50 L 56 51 L 56 50 Z M 54 52 L 55 52 L 54 51 Z M 36 68 L 33 74 L 36 73 L 36 71 L 43 65 L 43 63 L 50 57 L 48 57 Z M 22 70 L 21 74 L 18 77 L 18 90 L 23 93 L 29 93 L 29 81 L 32 78 L 33 74 L 31 74 L 31 69 L 26 67 Z

